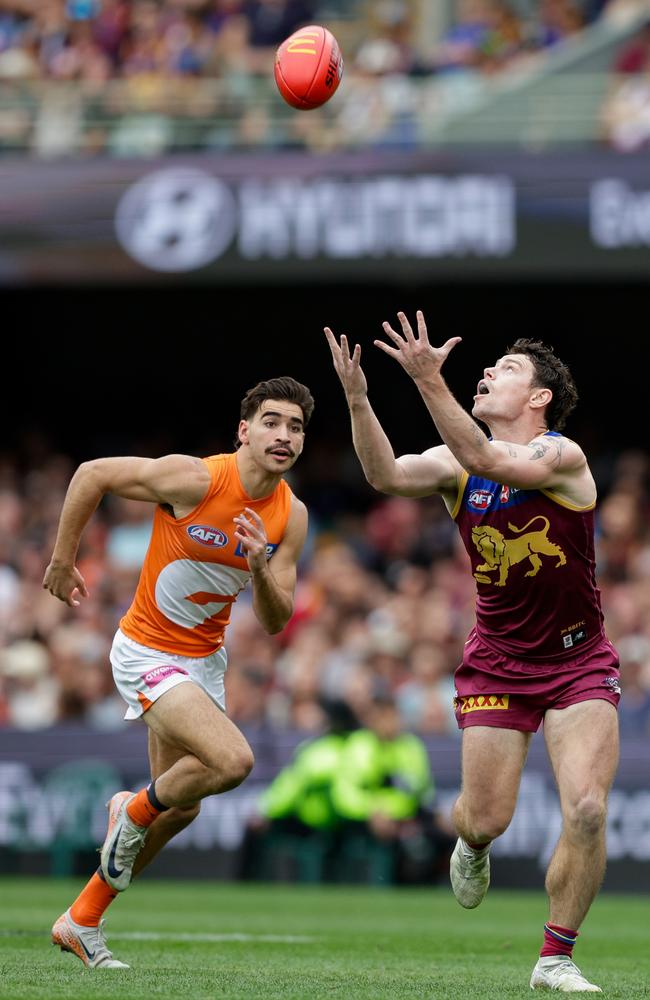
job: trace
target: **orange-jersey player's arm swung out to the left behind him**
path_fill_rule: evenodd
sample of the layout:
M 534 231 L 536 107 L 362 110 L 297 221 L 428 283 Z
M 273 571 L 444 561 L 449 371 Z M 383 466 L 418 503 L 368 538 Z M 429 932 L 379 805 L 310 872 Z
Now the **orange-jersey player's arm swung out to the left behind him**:
M 105 494 L 166 503 L 189 512 L 201 502 L 209 483 L 205 462 L 190 455 L 98 458 L 84 462 L 72 477 L 63 502 L 43 587 L 70 607 L 79 604 L 78 596 L 88 596 L 75 560 L 83 530 Z

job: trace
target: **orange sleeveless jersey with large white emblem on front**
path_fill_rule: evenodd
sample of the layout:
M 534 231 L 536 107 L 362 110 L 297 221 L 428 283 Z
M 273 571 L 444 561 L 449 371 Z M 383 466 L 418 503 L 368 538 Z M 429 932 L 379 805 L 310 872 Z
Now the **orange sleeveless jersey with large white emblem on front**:
M 208 656 L 223 645 L 231 606 L 250 579 L 233 517 L 244 507 L 259 514 L 270 558 L 291 508 L 284 480 L 269 496 L 251 500 L 239 478 L 236 453 L 204 461 L 211 483 L 191 514 L 177 519 L 156 507 L 135 597 L 120 622 L 135 642 L 181 656 Z

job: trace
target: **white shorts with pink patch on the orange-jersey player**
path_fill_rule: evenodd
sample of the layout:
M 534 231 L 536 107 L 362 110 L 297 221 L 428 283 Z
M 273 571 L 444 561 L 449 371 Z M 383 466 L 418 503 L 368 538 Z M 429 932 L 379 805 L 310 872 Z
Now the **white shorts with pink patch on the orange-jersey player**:
M 125 719 L 140 718 L 161 694 L 183 681 L 198 684 L 222 712 L 226 711 L 228 655 L 223 646 L 210 656 L 178 656 L 141 646 L 118 629 L 111 647 L 111 665 L 117 690 L 129 706 Z

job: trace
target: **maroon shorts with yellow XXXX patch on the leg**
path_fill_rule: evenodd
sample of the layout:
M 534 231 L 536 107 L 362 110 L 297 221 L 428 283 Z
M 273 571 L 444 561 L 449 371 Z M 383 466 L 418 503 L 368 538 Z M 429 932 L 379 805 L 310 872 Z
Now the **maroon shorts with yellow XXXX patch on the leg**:
M 618 656 L 603 639 L 570 660 L 526 663 L 486 646 L 472 629 L 454 675 L 459 729 L 495 726 L 535 733 L 549 708 L 599 698 L 615 707 L 621 698 Z

